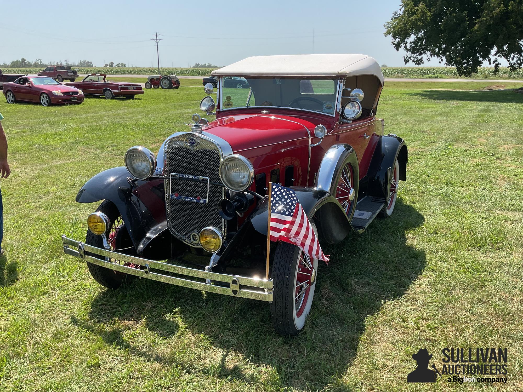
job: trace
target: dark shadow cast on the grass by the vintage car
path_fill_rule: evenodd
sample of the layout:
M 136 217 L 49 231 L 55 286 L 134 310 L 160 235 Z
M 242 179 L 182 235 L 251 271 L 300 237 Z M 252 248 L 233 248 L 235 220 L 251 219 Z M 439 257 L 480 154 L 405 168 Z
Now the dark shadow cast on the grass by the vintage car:
M 184 363 L 194 366 L 191 371 L 246 383 L 259 382 L 268 373 L 271 380 L 276 377 L 280 387 L 321 389 L 343 374 L 355 358 L 367 317 L 379 312 L 383 302 L 401 297 L 425 268 L 425 252 L 407 241 L 409 230 L 423 222 L 412 205 L 398 199 L 390 218 L 378 219 L 362 235 L 350 234 L 342 243 L 326 247 L 331 261 L 328 266 L 323 262 L 319 266 L 308 324 L 294 338 L 274 331 L 269 305 L 263 302 L 202 295 L 145 279 L 120 291 L 101 292 L 84 328 L 99 330 L 107 343 L 146 359 L 175 365 L 174 353 L 129 347 L 121 331 L 115 333 L 111 328 L 115 320 L 145 319 L 147 329 L 173 339 L 176 350 L 180 348 L 176 344 L 178 325 L 169 316 L 177 314 L 193 336 L 204 336 L 219 353 L 217 363 Z M 107 327 L 100 328 L 99 323 Z M 208 348 L 193 349 L 203 350 L 200 354 L 209 357 Z M 229 356 L 233 360 L 228 361 Z M 238 356 L 243 363 L 238 363 Z

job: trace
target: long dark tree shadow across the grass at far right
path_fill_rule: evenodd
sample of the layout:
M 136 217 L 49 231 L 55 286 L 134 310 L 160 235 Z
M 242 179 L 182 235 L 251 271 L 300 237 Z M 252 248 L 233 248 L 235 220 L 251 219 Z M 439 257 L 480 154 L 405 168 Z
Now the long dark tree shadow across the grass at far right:
M 523 94 L 515 93 L 516 89 L 499 90 L 420 90 L 407 95 L 442 101 L 475 101 L 497 103 L 523 103 Z

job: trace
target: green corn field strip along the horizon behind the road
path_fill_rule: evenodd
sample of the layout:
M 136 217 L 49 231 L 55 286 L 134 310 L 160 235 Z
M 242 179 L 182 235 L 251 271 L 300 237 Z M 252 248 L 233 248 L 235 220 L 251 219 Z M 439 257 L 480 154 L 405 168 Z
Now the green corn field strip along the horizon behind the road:
M 73 68 L 73 69 L 76 69 Z M 162 74 L 175 74 L 187 76 L 207 76 L 214 68 L 160 68 Z M 78 67 L 79 74 L 109 74 L 109 75 L 155 75 L 158 68 L 151 67 Z M 4 74 L 36 74 L 42 68 L 4 68 Z M 406 78 L 459 78 L 454 67 L 384 67 L 381 68 L 385 77 L 406 77 Z M 510 71 L 508 68 L 499 68 L 498 73 L 494 74 L 493 67 L 481 67 L 476 74 L 472 74 L 473 79 L 523 79 L 523 70 Z

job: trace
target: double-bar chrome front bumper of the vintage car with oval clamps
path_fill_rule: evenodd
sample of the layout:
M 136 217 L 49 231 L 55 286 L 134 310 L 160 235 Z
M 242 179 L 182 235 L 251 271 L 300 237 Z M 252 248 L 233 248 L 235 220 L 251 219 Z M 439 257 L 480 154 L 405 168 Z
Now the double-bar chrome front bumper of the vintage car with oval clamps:
M 74 239 L 67 238 L 64 235 L 62 236 L 62 242 L 64 244 L 64 252 L 67 255 L 78 257 L 84 261 L 98 264 L 98 266 L 109 268 L 111 270 L 140 276 L 141 278 L 156 280 L 158 282 L 190 287 L 190 289 L 208 291 L 210 293 L 272 302 L 272 279 L 266 280 L 247 278 L 246 276 L 202 271 L 194 268 L 176 266 L 175 264 L 164 263 L 161 261 L 141 259 L 139 257 L 124 255 L 123 253 L 113 252 L 111 250 L 100 249 L 91 245 L 87 245 L 75 241 Z M 103 257 L 105 260 L 86 255 L 86 252 L 94 253 L 95 255 Z M 113 263 L 108 261 L 109 259 L 120 260 L 122 263 L 139 264 L 143 267 L 143 269 L 132 268 L 124 266 L 123 264 Z M 156 273 L 152 271 L 153 269 L 170 272 L 177 275 L 183 275 L 184 277 Z M 199 278 L 202 281 L 186 278 Z M 215 281 L 218 284 L 206 283 L 204 281 L 206 279 Z

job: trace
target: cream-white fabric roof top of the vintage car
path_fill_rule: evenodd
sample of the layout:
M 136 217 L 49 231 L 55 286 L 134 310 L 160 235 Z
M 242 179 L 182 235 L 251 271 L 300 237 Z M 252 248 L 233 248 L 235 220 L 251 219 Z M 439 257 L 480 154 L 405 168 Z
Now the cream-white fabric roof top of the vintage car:
M 254 56 L 212 71 L 214 76 L 338 76 L 375 75 L 383 85 L 381 67 L 365 54 L 291 54 Z

